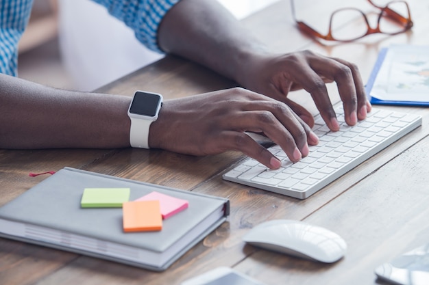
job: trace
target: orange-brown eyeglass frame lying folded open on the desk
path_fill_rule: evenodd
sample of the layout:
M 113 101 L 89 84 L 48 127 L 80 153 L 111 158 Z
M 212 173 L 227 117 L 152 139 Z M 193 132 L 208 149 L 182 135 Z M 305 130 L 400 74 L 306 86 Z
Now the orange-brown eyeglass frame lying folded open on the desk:
M 303 21 L 297 20 L 296 14 L 295 14 L 295 3 L 294 3 L 295 0 L 290 0 L 290 1 L 291 1 L 292 16 L 293 16 L 293 19 L 295 20 L 295 22 L 297 23 L 298 28 L 302 31 L 305 31 L 306 33 L 309 33 L 311 36 L 315 36 L 315 37 L 321 38 L 323 40 L 331 40 L 331 41 L 336 41 L 336 42 L 352 42 L 354 40 L 358 40 L 360 38 L 371 35 L 373 33 L 384 33 L 384 34 L 393 36 L 393 35 L 397 35 L 398 33 L 404 33 L 404 31 L 408 31 L 408 29 L 411 29 L 411 27 L 413 27 L 413 25 L 414 25 L 413 21 L 411 20 L 410 7 L 408 6 L 408 3 L 406 3 L 406 1 L 394 0 L 394 1 L 388 2 L 387 5 L 385 5 L 384 7 L 381 7 L 381 6 L 374 4 L 371 0 L 367 0 L 369 3 L 371 3 L 371 5 L 373 5 L 374 7 L 381 10 L 380 14 L 378 15 L 377 27 L 375 29 L 373 29 L 371 27 L 371 25 L 369 25 L 367 15 L 364 12 L 362 12 L 361 10 L 359 10 L 358 8 L 341 8 L 341 9 L 338 9 L 338 10 L 335 10 L 334 12 L 332 12 L 332 14 L 330 16 L 330 21 L 329 21 L 328 33 L 326 34 L 326 36 L 323 36 L 321 33 L 316 31 L 315 29 L 313 29 L 312 27 L 310 27 L 309 25 L 307 25 Z M 408 12 L 408 18 L 405 18 L 401 14 L 399 14 L 399 13 L 395 12 L 394 10 L 392 10 L 391 8 L 389 8 L 389 5 L 391 5 L 391 3 L 396 3 L 396 2 L 398 2 L 398 3 L 402 2 L 406 5 L 406 9 Z M 339 39 L 334 38 L 332 36 L 332 19 L 336 13 L 341 12 L 343 10 L 356 10 L 360 14 L 362 14 L 363 18 L 365 19 L 365 23 L 367 24 L 367 32 L 365 34 L 363 34 L 362 36 L 358 36 L 357 38 L 353 38 L 350 40 L 339 40 Z M 391 18 L 393 21 L 400 23 L 400 25 L 402 25 L 404 27 L 404 29 L 401 31 L 394 32 L 394 33 L 387 33 L 387 32 L 381 31 L 380 30 L 380 21 L 381 21 L 382 16 L 384 16 L 384 14 L 388 18 Z

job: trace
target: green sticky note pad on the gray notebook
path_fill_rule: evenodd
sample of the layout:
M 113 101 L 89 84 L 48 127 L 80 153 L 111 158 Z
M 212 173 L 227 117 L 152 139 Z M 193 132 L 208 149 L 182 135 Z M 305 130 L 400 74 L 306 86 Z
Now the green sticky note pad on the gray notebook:
M 130 188 L 85 188 L 82 208 L 121 208 L 130 200 Z

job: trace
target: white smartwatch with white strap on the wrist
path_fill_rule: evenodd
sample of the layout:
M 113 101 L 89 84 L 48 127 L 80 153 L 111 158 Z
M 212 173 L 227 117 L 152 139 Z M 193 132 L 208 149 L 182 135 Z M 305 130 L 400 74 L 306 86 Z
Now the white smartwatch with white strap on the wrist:
M 128 116 L 131 120 L 130 144 L 133 148 L 149 148 L 149 128 L 158 118 L 162 95 L 136 91 L 132 98 Z

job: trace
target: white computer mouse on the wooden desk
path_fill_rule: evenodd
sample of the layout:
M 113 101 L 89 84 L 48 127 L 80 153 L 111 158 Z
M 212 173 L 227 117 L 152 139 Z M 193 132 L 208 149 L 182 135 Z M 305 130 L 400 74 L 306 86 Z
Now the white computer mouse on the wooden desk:
M 338 234 L 304 221 L 276 219 L 252 228 L 243 241 L 275 252 L 332 263 L 341 259 L 347 244 Z

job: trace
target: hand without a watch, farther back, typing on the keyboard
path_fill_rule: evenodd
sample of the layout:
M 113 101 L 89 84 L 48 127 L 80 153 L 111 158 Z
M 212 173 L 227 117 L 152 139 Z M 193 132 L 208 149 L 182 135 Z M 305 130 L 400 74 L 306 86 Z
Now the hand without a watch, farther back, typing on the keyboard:
M 287 98 L 290 91 L 304 89 L 309 92 L 332 131 L 339 130 L 339 123 L 325 83 L 336 82 L 347 124 L 354 125 L 357 120 L 364 120 L 367 112 L 371 111 L 358 68 L 345 60 L 301 51 L 255 55 L 249 57 L 244 66 L 240 80 L 243 87 L 286 103 L 309 126 L 314 124 L 311 113 Z

